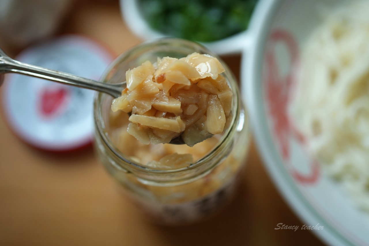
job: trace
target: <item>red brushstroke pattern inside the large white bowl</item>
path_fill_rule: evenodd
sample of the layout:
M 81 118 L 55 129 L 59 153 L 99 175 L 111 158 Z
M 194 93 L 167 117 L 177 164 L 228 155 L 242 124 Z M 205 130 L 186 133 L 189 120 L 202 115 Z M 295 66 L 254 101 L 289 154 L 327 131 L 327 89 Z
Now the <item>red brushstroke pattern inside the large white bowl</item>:
M 279 75 L 275 59 L 275 45 L 281 42 L 286 45 L 290 58 L 290 69 L 284 78 Z M 289 92 L 294 83 L 294 66 L 298 63 L 299 54 L 293 36 L 285 30 L 274 30 L 269 37 L 269 46 L 266 51 L 266 101 L 269 107 L 269 116 L 272 119 L 272 131 L 279 143 L 282 158 L 289 165 L 292 177 L 303 184 L 314 184 L 319 177 L 319 165 L 316 160 L 310 162 L 310 173 L 301 174 L 291 165 L 289 140 L 295 139 L 301 145 L 306 140 L 295 128 L 288 117 Z

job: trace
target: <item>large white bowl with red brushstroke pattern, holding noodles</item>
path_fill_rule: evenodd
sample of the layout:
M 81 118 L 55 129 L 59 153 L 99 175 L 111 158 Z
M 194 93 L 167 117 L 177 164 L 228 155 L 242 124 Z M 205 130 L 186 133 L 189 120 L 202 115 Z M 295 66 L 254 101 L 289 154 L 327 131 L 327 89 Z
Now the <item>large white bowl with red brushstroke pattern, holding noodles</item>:
M 289 89 L 297 82 L 293 68 L 320 23 L 318 5 L 341 2 L 261 0 L 249 26 L 255 39 L 242 57 L 243 94 L 265 166 L 297 215 L 307 225 L 324 226 L 313 232 L 330 245 L 368 245 L 368 214 L 309 156 L 287 117 Z

